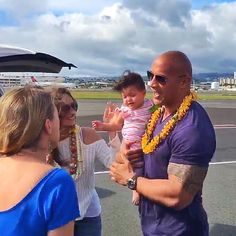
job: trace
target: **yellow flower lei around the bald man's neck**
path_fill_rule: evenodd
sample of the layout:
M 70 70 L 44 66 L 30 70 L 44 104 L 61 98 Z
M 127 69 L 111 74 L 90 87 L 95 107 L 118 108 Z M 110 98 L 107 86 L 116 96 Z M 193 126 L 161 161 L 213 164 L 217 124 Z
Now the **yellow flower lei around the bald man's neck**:
M 170 132 L 174 129 L 177 122 L 183 119 L 185 114 L 188 112 L 189 107 L 192 101 L 196 100 L 196 93 L 191 92 L 188 96 L 183 99 L 179 109 L 173 115 L 173 117 L 165 124 L 161 132 L 151 139 L 152 133 L 155 129 L 155 125 L 158 119 L 161 117 L 162 108 L 158 108 L 151 116 L 146 132 L 142 137 L 142 149 L 145 154 L 152 153 L 158 145 L 170 134 Z

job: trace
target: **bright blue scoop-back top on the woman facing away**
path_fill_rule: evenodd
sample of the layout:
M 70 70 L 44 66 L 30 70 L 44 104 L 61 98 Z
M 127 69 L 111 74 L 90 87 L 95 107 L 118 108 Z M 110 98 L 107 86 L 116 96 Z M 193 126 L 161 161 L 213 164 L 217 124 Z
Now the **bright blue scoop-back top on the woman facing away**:
M 0 211 L 0 235 L 46 236 L 79 217 L 74 182 L 63 169 L 53 169 L 14 207 Z

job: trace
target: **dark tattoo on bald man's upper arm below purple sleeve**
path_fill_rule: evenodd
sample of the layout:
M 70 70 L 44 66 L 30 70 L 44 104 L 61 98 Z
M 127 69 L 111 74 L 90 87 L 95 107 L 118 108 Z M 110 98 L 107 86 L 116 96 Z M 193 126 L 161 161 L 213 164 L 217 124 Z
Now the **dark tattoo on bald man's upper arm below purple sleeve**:
M 168 166 L 168 175 L 174 175 L 183 185 L 184 189 L 194 196 L 202 189 L 207 169 L 207 167 L 197 165 L 170 163 Z

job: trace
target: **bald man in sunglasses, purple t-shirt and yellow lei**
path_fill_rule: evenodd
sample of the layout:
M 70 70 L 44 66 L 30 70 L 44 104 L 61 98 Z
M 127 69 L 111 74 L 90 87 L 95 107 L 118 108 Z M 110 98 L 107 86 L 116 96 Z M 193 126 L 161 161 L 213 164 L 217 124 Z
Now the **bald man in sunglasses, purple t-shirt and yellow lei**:
M 201 195 L 216 140 L 206 111 L 190 91 L 191 62 L 182 52 L 168 51 L 155 58 L 147 75 L 160 112 L 151 118 L 143 150 L 127 145 L 110 175 L 140 193 L 143 235 L 207 236 Z M 136 159 L 142 151 L 144 176 L 137 177 L 121 160 Z

